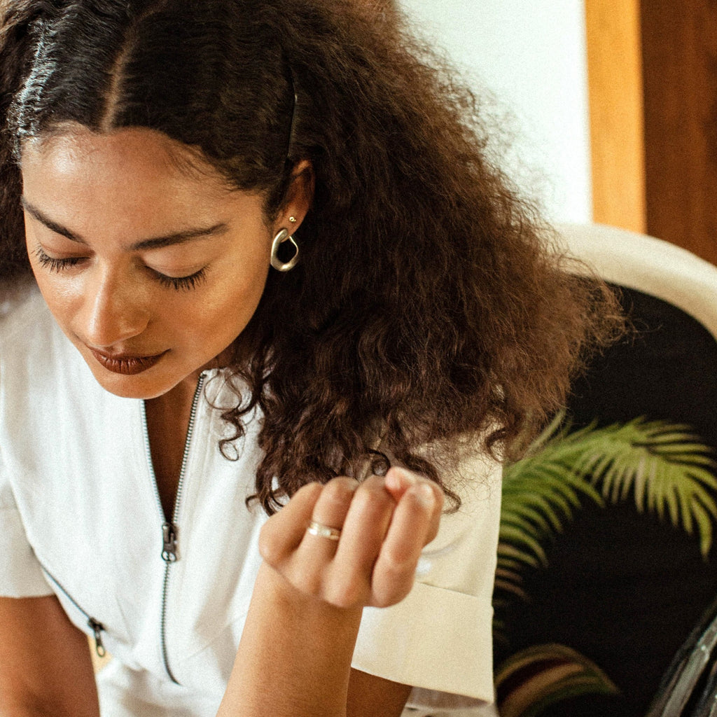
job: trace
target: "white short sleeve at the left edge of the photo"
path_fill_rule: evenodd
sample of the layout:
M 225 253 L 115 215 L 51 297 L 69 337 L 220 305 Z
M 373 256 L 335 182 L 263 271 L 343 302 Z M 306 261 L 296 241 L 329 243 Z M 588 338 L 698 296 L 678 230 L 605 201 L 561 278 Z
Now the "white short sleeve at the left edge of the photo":
M 40 597 L 52 594 L 32 547 L 0 452 L 0 597 Z

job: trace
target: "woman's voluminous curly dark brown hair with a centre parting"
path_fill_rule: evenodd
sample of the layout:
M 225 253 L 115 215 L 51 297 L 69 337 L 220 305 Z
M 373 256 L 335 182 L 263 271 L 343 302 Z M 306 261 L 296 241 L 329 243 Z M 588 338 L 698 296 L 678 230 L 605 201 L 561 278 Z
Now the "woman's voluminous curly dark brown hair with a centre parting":
M 151 128 L 199 148 L 229 186 L 262 192 L 267 217 L 310 161 L 302 260 L 271 272 L 234 342 L 237 405 L 223 413 L 229 455 L 262 411 L 256 497 L 268 512 L 308 480 L 356 475 L 379 445 L 455 498 L 458 447 L 518 445 L 614 333 L 612 295 L 548 250 L 549 230 L 488 158 L 475 98 L 399 11 L 4 5 L 0 277 L 29 272 L 23 144 L 63 123 Z

